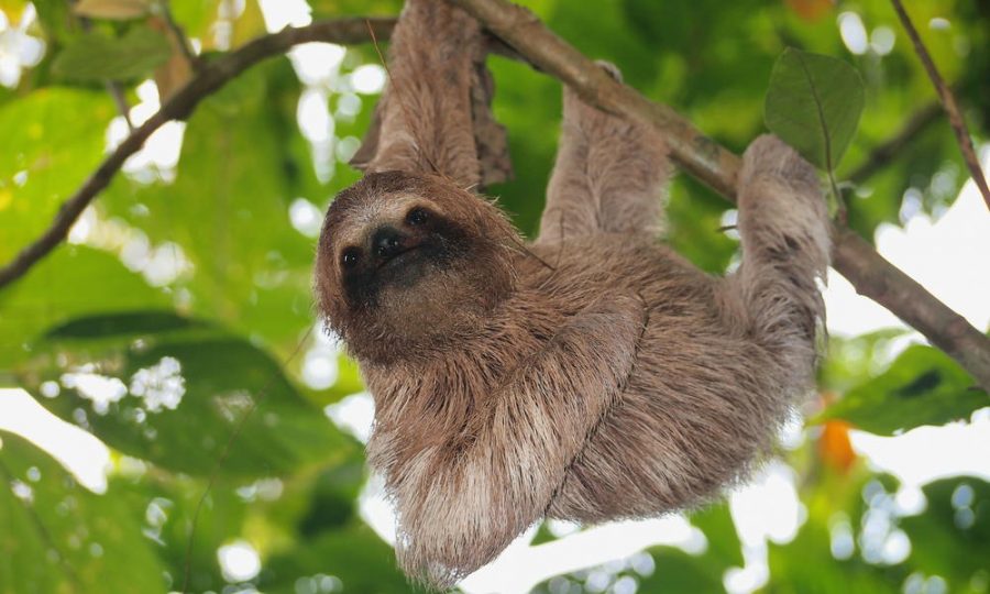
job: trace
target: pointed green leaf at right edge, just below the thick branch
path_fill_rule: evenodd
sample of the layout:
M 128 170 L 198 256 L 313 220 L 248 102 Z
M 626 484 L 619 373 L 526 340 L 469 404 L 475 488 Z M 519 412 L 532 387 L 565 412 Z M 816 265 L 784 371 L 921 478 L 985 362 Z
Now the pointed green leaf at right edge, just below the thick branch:
M 913 345 L 881 375 L 850 389 L 820 417 L 844 419 L 859 429 L 891 435 L 921 425 L 966 419 L 990 406 L 987 393 L 947 354 Z

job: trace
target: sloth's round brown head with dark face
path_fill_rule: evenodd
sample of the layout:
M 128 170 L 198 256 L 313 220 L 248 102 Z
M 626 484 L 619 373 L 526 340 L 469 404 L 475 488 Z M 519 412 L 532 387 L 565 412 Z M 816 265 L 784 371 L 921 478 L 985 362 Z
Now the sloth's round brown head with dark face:
M 327 211 L 320 311 L 365 361 L 443 349 L 477 331 L 512 292 L 520 244 L 501 210 L 448 179 L 367 174 Z

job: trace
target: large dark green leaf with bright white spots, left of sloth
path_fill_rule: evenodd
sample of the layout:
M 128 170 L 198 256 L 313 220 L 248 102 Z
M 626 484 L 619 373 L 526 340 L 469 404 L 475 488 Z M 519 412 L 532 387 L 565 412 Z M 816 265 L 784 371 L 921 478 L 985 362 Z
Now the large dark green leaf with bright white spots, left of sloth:
M 73 320 L 48 332 L 21 375 L 56 415 L 188 474 L 208 475 L 239 428 L 221 475 L 280 476 L 356 449 L 265 352 L 168 312 Z

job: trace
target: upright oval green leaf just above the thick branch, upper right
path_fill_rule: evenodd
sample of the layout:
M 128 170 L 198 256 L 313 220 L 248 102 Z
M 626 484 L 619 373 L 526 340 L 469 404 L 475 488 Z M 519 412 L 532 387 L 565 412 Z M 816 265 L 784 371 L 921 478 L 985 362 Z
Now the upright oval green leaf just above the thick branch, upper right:
M 770 74 L 767 128 L 822 169 L 833 172 L 864 107 L 859 73 L 845 62 L 789 47 Z

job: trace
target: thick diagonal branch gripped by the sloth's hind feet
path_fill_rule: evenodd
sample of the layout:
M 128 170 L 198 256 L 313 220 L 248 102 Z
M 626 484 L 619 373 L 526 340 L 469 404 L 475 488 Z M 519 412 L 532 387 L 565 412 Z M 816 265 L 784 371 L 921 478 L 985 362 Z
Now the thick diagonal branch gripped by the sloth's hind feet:
M 734 200 L 739 157 L 702 134 L 666 106 L 616 82 L 605 70 L 550 32 L 529 11 L 506 0 L 449 0 L 474 14 L 492 33 L 546 73 L 606 111 L 662 130 L 673 157 L 693 176 Z M 856 289 L 890 309 L 943 349 L 990 389 L 990 339 L 894 267 L 862 238 L 833 229 L 833 265 Z

